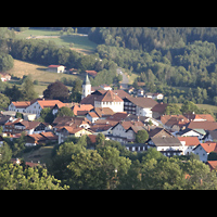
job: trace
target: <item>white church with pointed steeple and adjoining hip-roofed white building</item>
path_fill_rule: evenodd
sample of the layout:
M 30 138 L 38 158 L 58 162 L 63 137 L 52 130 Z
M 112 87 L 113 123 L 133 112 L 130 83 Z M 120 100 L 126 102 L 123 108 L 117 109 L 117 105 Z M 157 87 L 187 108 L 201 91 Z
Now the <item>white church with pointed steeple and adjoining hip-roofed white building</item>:
M 124 90 L 95 90 L 91 91 L 91 84 L 86 75 L 82 84 L 82 95 L 80 104 L 92 104 L 94 107 L 110 107 L 113 112 L 124 112 L 123 98 L 128 95 Z

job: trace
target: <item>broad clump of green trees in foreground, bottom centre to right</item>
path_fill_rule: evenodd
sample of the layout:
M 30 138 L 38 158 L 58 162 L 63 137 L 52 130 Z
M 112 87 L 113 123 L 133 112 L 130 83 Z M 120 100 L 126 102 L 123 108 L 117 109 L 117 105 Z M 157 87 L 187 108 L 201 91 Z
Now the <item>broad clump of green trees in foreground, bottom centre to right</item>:
M 86 146 L 86 136 L 62 143 L 48 168 L 72 190 L 217 189 L 216 171 L 195 157 L 168 158 L 155 149 L 131 153 L 103 138 L 98 139 L 95 150 Z

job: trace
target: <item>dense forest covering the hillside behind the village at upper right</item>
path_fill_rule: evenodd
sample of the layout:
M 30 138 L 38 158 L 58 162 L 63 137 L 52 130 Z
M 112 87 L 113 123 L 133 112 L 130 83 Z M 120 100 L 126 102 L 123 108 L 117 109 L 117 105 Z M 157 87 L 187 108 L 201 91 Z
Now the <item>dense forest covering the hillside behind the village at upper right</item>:
M 190 91 L 195 103 L 217 104 L 217 28 L 93 27 L 88 36 L 101 59 L 138 74 L 148 91 L 163 91 L 171 103 Z M 186 89 L 173 100 L 166 94 L 173 87 Z

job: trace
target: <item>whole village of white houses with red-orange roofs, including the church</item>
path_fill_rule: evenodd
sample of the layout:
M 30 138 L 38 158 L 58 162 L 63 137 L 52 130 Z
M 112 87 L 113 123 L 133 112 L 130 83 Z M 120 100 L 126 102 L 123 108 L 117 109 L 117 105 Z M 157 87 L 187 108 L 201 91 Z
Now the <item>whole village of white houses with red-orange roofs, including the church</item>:
M 64 73 L 64 66 L 50 65 L 48 71 Z M 25 146 L 28 148 L 61 144 L 71 137 L 87 135 L 91 141 L 90 149 L 94 149 L 97 136 L 103 133 L 106 140 L 118 141 L 131 152 L 154 148 L 167 157 L 193 153 L 210 169 L 217 166 L 217 161 L 208 161 L 210 153 L 217 153 L 217 123 L 210 114 L 165 115 L 168 104 L 163 103 L 162 93 L 139 89 L 132 97 L 132 87 L 125 90 L 113 90 L 107 85 L 92 87 L 89 77 L 95 74 L 86 71 L 79 103 L 44 98 L 11 102 L 8 111 L 0 114 L 1 143 L 4 138 L 13 141 L 22 133 L 25 133 Z M 4 74 L 1 79 L 10 78 Z M 51 108 L 53 115 L 61 107 L 69 107 L 74 116 L 55 117 L 51 124 L 36 122 L 46 107 Z M 22 117 L 17 117 L 17 113 Z M 136 141 L 140 130 L 149 135 L 143 143 Z M 40 162 L 31 161 L 29 165 L 34 163 Z

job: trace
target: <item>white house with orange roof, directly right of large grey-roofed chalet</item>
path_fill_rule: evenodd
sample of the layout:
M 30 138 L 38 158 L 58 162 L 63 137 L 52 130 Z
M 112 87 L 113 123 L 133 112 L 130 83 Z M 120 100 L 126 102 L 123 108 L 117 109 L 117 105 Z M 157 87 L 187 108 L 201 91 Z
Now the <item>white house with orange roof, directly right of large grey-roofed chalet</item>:
M 177 139 L 184 146 L 183 155 L 193 153 L 193 149 L 200 144 L 197 137 L 177 137 Z

